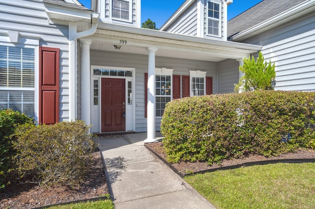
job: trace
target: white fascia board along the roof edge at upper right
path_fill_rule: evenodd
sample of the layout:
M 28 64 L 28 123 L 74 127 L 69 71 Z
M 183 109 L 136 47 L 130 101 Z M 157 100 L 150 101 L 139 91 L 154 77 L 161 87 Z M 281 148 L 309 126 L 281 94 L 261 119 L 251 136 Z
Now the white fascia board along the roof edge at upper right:
M 255 33 L 258 33 L 258 32 L 261 33 L 261 32 L 269 30 L 271 27 L 274 28 L 276 26 L 280 26 L 284 24 L 285 22 L 298 18 L 314 10 L 315 10 L 315 0 L 307 0 L 256 26 L 252 26 L 251 28 L 232 36 L 232 41 L 242 41 L 245 38 L 251 37 Z

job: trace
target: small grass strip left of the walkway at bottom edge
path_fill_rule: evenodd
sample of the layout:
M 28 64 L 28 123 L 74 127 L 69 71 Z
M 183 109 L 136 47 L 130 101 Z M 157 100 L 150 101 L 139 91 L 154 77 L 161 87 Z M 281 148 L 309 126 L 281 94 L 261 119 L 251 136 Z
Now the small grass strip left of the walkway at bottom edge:
M 114 205 L 111 200 L 98 200 L 86 203 L 71 203 L 62 206 L 52 206 L 45 209 L 114 209 Z

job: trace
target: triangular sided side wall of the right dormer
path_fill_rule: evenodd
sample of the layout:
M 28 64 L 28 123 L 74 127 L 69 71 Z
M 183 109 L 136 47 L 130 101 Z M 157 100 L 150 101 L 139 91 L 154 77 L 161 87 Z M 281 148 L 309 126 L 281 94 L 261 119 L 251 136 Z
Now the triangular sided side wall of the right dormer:
M 177 20 L 165 31 L 171 33 L 197 35 L 197 3 L 192 4 Z

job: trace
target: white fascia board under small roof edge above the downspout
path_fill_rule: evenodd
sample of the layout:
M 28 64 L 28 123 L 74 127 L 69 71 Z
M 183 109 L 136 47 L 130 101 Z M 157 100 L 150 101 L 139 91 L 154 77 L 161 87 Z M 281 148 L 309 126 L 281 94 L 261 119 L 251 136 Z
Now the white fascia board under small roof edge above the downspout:
M 53 4 L 46 4 L 45 7 L 46 7 L 45 11 L 49 19 L 66 21 L 91 20 L 90 10 L 79 10 Z

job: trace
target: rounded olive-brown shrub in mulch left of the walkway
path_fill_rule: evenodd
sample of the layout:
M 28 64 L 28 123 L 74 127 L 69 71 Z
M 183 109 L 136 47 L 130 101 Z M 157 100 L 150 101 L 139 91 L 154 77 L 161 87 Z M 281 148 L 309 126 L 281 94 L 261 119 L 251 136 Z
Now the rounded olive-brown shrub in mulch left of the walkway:
M 14 143 L 17 171 L 33 183 L 74 186 L 81 182 L 93 151 L 92 134 L 83 121 L 21 125 Z

